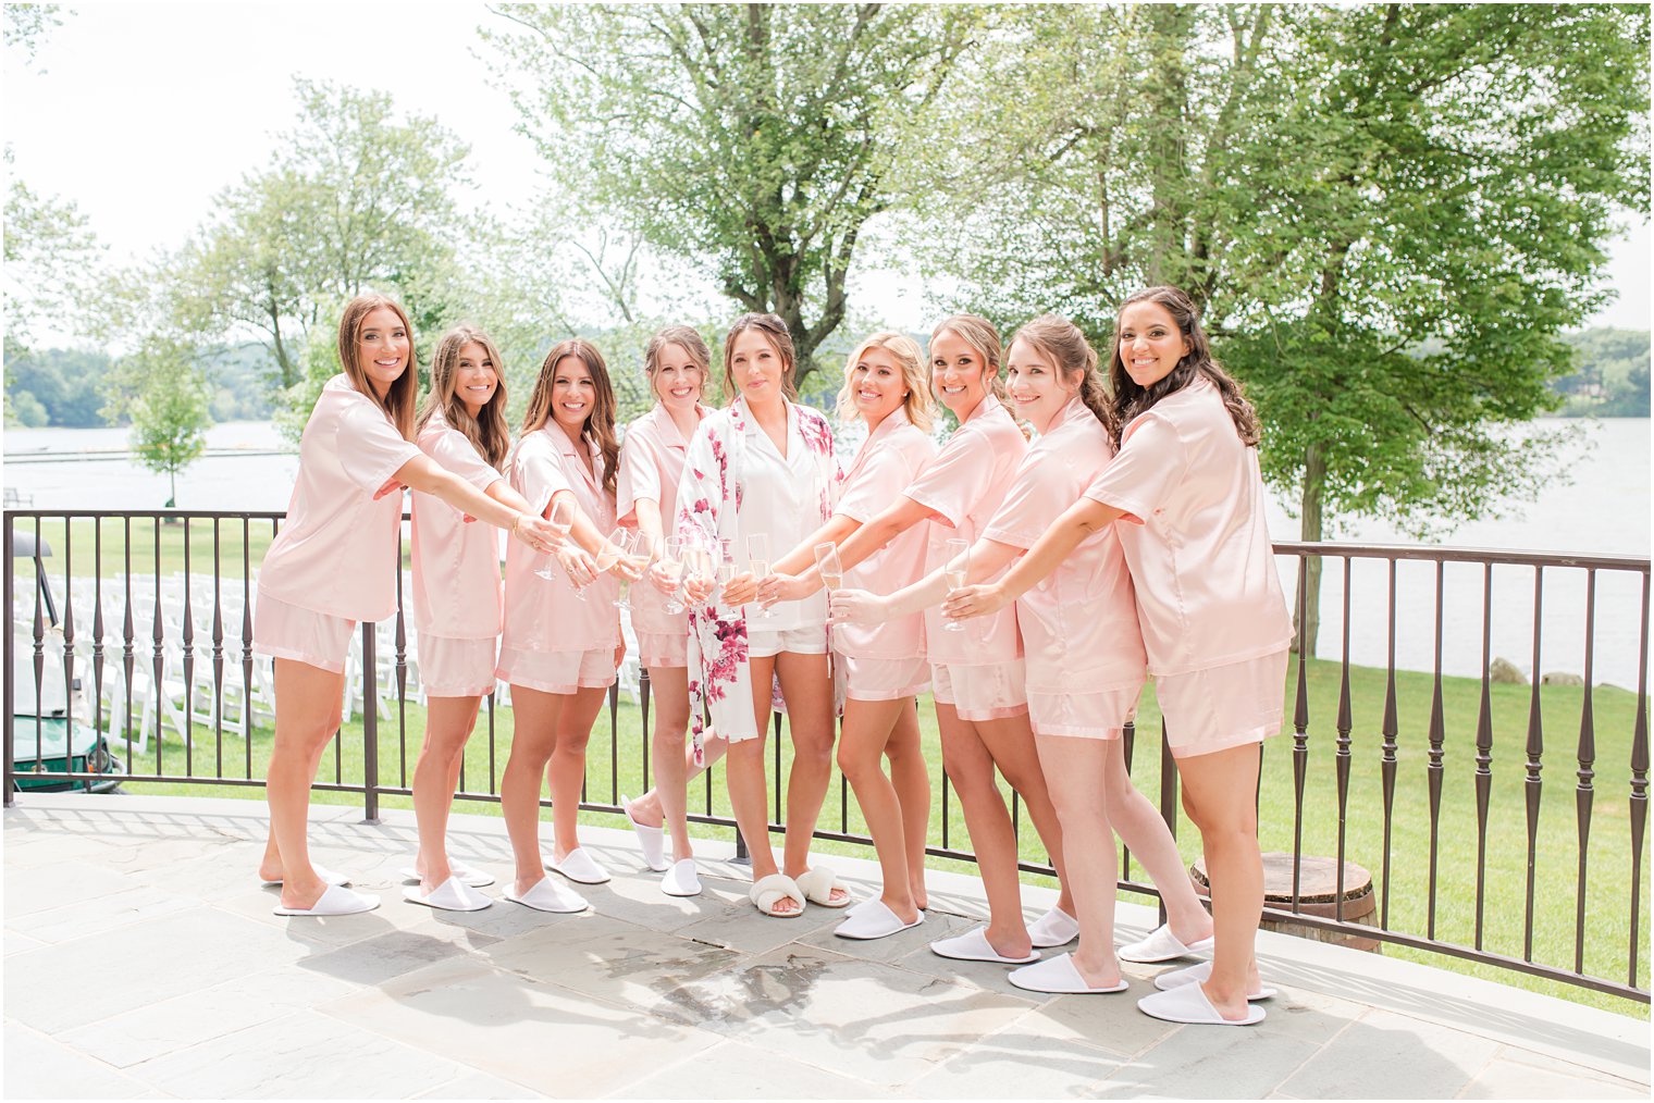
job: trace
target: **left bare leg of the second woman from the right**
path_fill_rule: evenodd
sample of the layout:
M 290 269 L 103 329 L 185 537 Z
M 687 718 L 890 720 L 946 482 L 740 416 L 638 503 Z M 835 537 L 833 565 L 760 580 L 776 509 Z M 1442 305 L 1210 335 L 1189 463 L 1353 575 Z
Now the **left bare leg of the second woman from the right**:
M 1108 827 L 1108 787 L 1103 784 L 1108 744 L 1118 739 L 1039 736 L 1039 757 L 1062 819 L 1067 847 L 1064 883 L 1073 881 L 1080 946 L 1073 967 L 1092 987 L 1120 984 L 1115 959 L 1115 837 Z M 1115 751 L 1118 754 L 1118 751 Z

